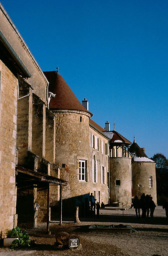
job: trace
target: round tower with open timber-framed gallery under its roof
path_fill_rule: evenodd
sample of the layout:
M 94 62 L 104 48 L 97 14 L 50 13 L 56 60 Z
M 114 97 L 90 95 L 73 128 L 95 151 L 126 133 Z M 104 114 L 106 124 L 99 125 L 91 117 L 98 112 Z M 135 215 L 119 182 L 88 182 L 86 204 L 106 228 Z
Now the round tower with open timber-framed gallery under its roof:
M 110 204 L 114 202 L 131 204 L 131 142 L 116 130 L 107 134 L 110 140 Z M 119 204 L 120 205 L 120 204 Z

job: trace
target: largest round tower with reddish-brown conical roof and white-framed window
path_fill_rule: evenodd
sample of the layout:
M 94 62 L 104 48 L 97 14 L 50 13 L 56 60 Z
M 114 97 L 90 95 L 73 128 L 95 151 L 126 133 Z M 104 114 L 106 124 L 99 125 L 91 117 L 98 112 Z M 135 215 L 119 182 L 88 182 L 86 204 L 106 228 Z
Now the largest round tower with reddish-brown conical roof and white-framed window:
M 69 181 L 63 188 L 67 205 L 72 198 L 85 201 L 90 183 L 89 118 L 92 114 L 80 103 L 63 77 L 57 71 L 44 72 L 49 81 L 51 97 L 49 108 L 55 114 L 55 166 L 60 178 Z M 69 198 L 69 200 L 68 200 Z M 68 204 L 68 202 L 70 202 Z

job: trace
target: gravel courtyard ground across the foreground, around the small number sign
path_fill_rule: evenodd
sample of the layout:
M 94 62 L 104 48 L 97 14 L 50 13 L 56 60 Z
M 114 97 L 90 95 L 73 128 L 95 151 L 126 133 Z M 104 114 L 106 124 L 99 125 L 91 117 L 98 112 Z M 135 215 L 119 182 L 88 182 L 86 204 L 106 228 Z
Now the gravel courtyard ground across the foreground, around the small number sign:
M 10 250 L 0 248 L 0 256 L 153 256 L 155 254 L 168 256 L 168 219 L 163 217 L 165 212 L 159 208 L 158 216 L 151 219 L 137 219 L 135 210 L 130 212 L 124 219 L 119 214 L 113 215 L 114 210 L 102 210 L 99 219 L 82 220 L 80 225 L 72 221 L 59 221 L 50 223 L 51 234 L 46 234 L 46 224 L 40 224 L 37 229 L 27 230 L 30 238 L 36 240 L 34 247 Z M 157 212 L 156 212 L 157 213 Z M 162 215 L 161 215 L 162 213 Z M 162 216 L 159 217 L 159 216 Z M 135 232 L 98 232 L 88 231 L 91 224 L 124 224 L 131 225 Z M 55 234 L 60 231 L 76 234 L 80 238 L 81 245 L 77 249 L 56 248 L 54 246 Z

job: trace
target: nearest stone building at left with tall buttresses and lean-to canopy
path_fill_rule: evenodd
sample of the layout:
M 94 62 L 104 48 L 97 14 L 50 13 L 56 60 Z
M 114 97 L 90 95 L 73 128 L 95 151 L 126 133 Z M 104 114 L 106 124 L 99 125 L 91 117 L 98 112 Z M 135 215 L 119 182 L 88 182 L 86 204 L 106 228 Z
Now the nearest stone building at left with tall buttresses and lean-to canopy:
M 49 219 L 55 117 L 48 81 L 0 3 L 0 231 Z M 50 135 L 52 133 L 52 135 Z M 52 174 L 52 175 L 51 175 Z

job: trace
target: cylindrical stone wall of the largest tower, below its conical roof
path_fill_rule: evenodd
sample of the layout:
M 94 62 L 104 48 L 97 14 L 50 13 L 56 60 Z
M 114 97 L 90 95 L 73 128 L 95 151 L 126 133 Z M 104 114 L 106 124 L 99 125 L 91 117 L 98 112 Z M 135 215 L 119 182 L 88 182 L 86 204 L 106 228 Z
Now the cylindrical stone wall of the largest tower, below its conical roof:
M 55 112 L 56 116 L 56 167 L 60 167 L 60 178 L 68 180 L 63 188 L 63 199 L 89 193 L 90 180 L 79 181 L 79 160 L 89 162 L 89 116 L 80 111 Z

